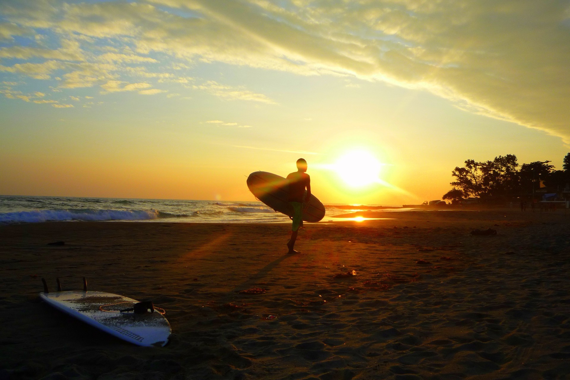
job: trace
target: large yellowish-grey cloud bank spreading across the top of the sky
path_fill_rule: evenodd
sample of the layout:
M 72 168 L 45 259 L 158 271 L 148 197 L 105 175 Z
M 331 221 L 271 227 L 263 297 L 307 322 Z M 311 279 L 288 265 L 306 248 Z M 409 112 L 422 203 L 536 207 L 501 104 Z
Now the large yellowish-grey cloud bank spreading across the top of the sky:
M 3 48 L 1 54 L 14 59 L 46 61 L 0 66 L 0 71 L 49 79 L 61 70 L 64 88 L 125 80 L 125 75 L 159 77 L 129 64 L 156 64 L 153 57 L 161 54 L 169 57 L 164 71 L 222 62 L 425 89 L 468 112 L 570 140 L 566 0 L 6 0 L 0 13 L 5 21 L 0 40 L 45 30 L 60 39 L 55 49 Z M 66 40 L 81 46 L 66 50 Z M 215 81 L 194 88 L 221 99 L 275 103 Z

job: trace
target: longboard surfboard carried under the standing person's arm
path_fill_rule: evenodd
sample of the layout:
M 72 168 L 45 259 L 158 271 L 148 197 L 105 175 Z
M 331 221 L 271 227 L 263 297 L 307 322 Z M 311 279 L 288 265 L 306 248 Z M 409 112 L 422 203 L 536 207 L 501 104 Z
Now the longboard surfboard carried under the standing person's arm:
M 293 207 L 288 202 L 289 193 L 287 179 L 267 171 L 254 171 L 247 177 L 247 188 L 256 199 L 265 203 L 279 213 L 293 217 Z M 305 191 L 305 196 L 307 191 Z M 324 218 L 323 203 L 311 194 L 311 198 L 303 206 L 302 219 L 304 222 L 319 222 Z

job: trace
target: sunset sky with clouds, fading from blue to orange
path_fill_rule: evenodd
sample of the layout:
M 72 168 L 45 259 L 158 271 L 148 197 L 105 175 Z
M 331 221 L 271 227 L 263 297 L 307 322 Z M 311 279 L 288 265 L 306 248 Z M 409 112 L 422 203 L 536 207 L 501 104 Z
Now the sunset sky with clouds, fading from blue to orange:
M 421 203 L 561 169 L 569 104 L 568 1 L 0 2 L 5 195 L 247 201 L 303 157 L 323 202 Z

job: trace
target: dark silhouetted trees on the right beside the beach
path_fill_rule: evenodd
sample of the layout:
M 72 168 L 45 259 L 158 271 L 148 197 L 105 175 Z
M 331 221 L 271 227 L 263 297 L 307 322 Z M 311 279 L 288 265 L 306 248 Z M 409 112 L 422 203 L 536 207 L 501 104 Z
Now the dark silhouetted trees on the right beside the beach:
M 562 170 L 555 170 L 551 161 L 534 161 L 519 165 L 514 154 L 495 157 L 492 161 L 465 161 L 455 167 L 450 183 L 453 189 L 443 199 L 459 201 L 463 198 L 515 198 L 527 197 L 533 189 L 548 187 L 561 190 L 570 182 L 570 153 L 563 160 Z

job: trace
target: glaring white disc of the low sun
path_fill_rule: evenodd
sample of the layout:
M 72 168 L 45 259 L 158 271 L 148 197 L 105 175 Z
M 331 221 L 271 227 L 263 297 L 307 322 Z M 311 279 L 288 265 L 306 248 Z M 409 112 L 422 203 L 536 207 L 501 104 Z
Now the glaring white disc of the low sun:
M 363 187 L 380 181 L 382 164 L 372 153 L 353 150 L 341 156 L 334 170 L 351 187 Z

